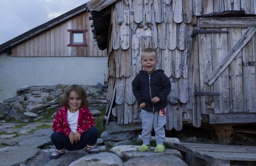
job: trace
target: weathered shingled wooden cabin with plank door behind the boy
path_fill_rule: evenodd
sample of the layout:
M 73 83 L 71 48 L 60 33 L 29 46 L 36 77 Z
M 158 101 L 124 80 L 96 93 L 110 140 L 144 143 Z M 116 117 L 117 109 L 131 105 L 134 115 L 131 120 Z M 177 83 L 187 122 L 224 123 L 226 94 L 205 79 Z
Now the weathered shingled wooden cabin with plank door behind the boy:
M 131 82 L 148 47 L 172 84 L 166 130 L 255 124 L 254 0 L 91 0 L 87 11 L 108 52 L 105 124 L 113 107 L 118 124 L 141 123 Z

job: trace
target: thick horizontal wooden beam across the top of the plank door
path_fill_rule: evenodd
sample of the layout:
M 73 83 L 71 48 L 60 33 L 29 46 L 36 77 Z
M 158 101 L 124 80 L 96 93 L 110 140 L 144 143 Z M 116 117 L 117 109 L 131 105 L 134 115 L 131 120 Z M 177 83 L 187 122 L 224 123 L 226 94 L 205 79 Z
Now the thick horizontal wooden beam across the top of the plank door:
M 256 17 L 207 17 L 198 19 L 199 28 L 247 28 L 256 26 Z

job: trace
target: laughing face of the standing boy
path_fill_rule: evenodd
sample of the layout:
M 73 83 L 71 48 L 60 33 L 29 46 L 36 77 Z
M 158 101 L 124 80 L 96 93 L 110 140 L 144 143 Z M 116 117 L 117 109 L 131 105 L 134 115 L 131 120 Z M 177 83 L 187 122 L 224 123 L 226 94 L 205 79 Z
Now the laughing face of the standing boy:
M 141 56 L 142 56 L 141 64 L 143 68 L 148 73 L 151 73 L 152 71 L 154 71 L 155 66 L 157 64 L 157 59 L 155 57 L 154 52 L 149 52 L 149 53 L 144 52 Z

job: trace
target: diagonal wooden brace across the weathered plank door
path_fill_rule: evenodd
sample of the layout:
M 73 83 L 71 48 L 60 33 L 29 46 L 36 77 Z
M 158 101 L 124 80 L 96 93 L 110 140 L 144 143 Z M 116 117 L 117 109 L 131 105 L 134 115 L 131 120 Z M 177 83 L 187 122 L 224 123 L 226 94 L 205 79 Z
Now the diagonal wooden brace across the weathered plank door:
M 229 63 L 236 57 L 238 52 L 244 47 L 244 45 L 253 37 L 256 32 L 256 27 L 248 27 L 245 33 L 239 38 L 239 40 L 233 45 L 233 47 L 227 52 L 224 58 L 219 62 L 215 69 L 204 80 L 209 86 L 215 81 L 219 74 L 229 65 Z

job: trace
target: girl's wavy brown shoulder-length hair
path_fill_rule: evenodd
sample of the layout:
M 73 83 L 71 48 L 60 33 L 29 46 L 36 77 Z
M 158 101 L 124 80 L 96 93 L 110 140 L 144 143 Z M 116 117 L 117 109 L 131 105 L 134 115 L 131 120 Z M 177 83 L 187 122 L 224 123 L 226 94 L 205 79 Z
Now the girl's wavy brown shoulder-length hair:
M 90 106 L 90 103 L 87 100 L 88 95 L 80 85 L 69 85 L 66 88 L 64 97 L 61 100 L 61 105 L 62 106 L 68 105 L 69 94 L 70 94 L 71 91 L 74 91 L 79 97 L 82 98 L 82 105 L 85 108 Z

